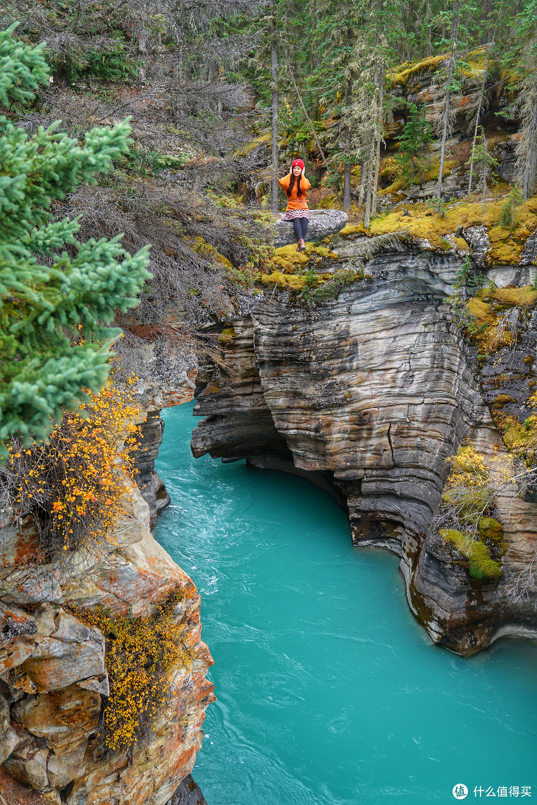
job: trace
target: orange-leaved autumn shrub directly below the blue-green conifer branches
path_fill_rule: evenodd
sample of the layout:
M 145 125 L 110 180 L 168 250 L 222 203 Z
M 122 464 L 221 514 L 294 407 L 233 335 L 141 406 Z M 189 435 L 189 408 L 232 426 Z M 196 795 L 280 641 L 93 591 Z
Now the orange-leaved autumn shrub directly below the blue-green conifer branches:
M 65 411 L 48 442 L 23 449 L 11 441 L 2 468 L 7 500 L 19 518 L 33 515 L 48 559 L 81 548 L 97 551 L 124 514 L 139 407 L 128 386 L 86 394 L 88 402 Z

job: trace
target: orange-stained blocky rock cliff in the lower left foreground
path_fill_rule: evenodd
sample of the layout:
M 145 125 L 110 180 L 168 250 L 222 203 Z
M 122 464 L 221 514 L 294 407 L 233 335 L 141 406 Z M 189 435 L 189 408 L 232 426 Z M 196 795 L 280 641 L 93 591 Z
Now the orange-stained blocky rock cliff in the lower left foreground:
M 204 710 L 214 700 L 200 597 L 151 536 L 138 489 L 125 505 L 116 547 L 93 558 L 73 555 L 62 570 L 40 564 L 31 522 L 22 535 L 10 524 L 2 529 L 0 760 L 7 774 L 0 792 L 9 805 L 164 805 L 194 766 Z M 101 605 L 139 617 L 178 587 L 184 599 L 176 617 L 194 652 L 192 668 L 171 668 L 171 696 L 152 732 L 128 753 L 105 757 L 93 741 L 109 695 L 105 639 L 70 607 Z

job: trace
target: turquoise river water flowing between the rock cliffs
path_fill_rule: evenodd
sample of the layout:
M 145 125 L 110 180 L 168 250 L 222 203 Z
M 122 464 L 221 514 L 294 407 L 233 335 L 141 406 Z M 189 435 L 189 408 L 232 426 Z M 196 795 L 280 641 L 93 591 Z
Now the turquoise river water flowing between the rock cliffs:
M 200 591 L 215 660 L 194 770 L 209 805 L 453 803 L 459 782 L 468 802 L 537 799 L 535 646 L 432 646 L 397 557 L 353 548 L 328 494 L 194 460 L 192 405 L 163 416 L 156 536 Z

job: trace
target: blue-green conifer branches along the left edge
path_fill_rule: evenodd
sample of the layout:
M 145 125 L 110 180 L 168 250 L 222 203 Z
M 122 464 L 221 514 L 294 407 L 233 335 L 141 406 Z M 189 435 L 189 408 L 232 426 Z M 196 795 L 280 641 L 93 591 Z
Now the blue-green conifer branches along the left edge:
M 0 31 L 0 103 L 24 102 L 50 69 L 43 47 Z M 121 234 L 76 240 L 78 220 L 54 221 L 51 200 L 95 183 L 129 146 L 130 126 L 93 129 L 84 147 L 60 121 L 33 137 L 0 116 L 0 442 L 43 439 L 62 409 L 97 391 L 109 374 L 115 311 L 138 303 L 151 275 L 147 248 L 131 256 Z M 63 250 L 72 244 L 69 253 Z M 52 264 L 52 267 L 51 267 Z M 80 337 L 81 336 L 81 337 Z M 73 343 L 73 341 L 79 343 Z M 82 343 L 80 343 L 82 341 Z M 3 450 L 4 448 L 2 448 Z

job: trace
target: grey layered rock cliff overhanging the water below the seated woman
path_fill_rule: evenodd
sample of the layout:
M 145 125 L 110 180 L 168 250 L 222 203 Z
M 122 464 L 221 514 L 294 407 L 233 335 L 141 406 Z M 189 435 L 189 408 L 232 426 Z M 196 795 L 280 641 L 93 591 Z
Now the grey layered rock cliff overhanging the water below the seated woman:
M 452 324 L 456 255 L 382 252 L 322 303 L 287 292 L 235 321 L 225 369 L 213 368 L 195 413 L 194 456 L 282 469 L 328 489 L 356 545 L 401 555 L 408 599 L 436 642 L 461 654 L 499 634 L 537 632 L 535 601 L 506 589 L 537 540 L 537 506 L 503 506 L 510 540 L 499 584 L 475 584 L 430 535 L 446 459 L 473 440 L 501 444 L 479 389 L 473 347 Z M 441 543 L 441 541 L 440 541 Z

